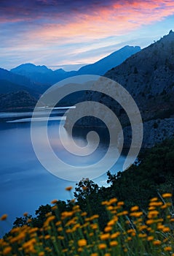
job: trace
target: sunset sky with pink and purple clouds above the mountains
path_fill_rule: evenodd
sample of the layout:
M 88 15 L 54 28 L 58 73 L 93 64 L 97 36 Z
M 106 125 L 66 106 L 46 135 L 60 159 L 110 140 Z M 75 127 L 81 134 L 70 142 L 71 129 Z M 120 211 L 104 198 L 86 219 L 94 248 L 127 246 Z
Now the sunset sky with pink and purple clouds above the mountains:
M 0 0 L 0 67 L 78 69 L 170 29 L 173 0 Z

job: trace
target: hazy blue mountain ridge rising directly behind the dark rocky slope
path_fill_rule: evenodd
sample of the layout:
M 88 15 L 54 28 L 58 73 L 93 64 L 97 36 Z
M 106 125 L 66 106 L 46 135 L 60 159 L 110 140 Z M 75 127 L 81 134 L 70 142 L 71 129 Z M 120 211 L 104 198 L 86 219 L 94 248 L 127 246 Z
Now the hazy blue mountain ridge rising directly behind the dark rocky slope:
M 104 75 L 112 67 L 116 67 L 121 64 L 125 59 L 129 58 L 135 53 L 138 53 L 141 48 L 139 46 L 124 46 L 123 48 L 116 50 L 114 53 L 106 56 L 103 59 L 89 64 L 79 69 L 79 75 Z

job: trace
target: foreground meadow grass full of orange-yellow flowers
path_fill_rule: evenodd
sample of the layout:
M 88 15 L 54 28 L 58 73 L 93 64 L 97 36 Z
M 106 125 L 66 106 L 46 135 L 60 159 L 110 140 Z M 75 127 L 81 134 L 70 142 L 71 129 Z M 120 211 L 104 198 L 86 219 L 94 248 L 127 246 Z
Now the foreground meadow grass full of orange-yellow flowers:
M 29 220 L 28 225 L 12 228 L 0 239 L 0 255 L 174 256 L 171 196 L 152 198 L 147 212 L 138 206 L 125 211 L 124 202 L 116 198 L 103 201 L 109 217 L 104 230 L 98 225 L 99 216 L 82 212 L 74 200 L 72 210 L 62 214 L 53 200 L 53 213 L 47 214 L 44 226 L 31 227 Z M 4 214 L 1 221 L 6 219 Z

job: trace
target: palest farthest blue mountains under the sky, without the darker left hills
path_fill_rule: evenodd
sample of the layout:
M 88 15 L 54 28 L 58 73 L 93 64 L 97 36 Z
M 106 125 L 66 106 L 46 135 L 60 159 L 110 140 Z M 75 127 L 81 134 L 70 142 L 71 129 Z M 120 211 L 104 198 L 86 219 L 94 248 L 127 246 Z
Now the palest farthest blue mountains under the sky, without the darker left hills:
M 36 66 L 34 64 L 22 64 L 10 71 L 17 75 L 24 75 L 29 78 L 33 83 L 41 83 L 47 86 L 51 86 L 60 80 L 65 78 L 70 78 L 75 75 L 103 75 L 106 71 L 111 69 L 111 67 L 116 67 L 121 64 L 125 59 L 132 56 L 134 53 L 140 51 L 139 46 L 125 46 L 116 52 L 111 53 L 103 59 L 82 67 L 78 71 L 66 72 L 63 69 L 57 69 L 53 71 L 48 69 L 46 66 Z

